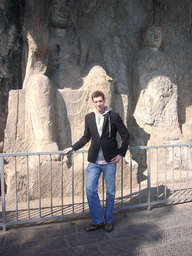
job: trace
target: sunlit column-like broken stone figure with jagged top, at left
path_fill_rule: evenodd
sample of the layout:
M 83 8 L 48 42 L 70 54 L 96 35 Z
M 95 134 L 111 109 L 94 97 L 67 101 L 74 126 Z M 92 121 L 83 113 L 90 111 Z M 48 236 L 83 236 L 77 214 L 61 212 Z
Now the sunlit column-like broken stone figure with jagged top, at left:
M 25 135 L 33 141 L 35 151 L 58 150 L 55 125 L 55 88 L 46 75 L 48 35 L 41 37 L 43 29 L 34 27 L 27 33 L 28 60 L 23 84 L 25 90 Z M 35 34 L 35 36 L 34 36 Z

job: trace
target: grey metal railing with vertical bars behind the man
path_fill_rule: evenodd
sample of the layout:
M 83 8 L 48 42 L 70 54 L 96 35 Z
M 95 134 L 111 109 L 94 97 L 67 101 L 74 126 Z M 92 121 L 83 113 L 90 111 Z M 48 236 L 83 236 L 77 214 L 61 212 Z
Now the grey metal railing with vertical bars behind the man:
M 192 199 L 192 143 L 130 147 L 117 166 L 115 209 Z M 89 214 L 87 150 L 0 154 L 0 226 Z M 105 207 L 105 183 L 98 193 Z

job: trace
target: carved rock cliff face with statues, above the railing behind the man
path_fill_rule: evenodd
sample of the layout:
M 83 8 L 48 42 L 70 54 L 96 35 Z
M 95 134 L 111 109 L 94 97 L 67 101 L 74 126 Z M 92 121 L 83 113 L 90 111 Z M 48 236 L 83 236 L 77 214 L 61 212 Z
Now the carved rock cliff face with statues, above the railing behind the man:
M 153 144 L 156 132 L 160 144 L 191 141 L 190 0 L 1 0 L 0 23 L 0 141 L 8 93 L 19 90 L 10 94 L 6 152 L 69 146 L 94 88 L 113 95 L 133 146 Z M 143 37 L 150 25 L 161 28 L 158 47 Z M 171 127 L 174 136 L 161 138 Z

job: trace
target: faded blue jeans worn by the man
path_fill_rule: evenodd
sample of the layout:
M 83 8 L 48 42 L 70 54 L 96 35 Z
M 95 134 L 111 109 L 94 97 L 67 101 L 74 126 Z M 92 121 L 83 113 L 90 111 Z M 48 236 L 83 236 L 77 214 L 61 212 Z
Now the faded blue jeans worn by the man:
M 101 172 L 103 172 L 103 177 L 107 188 L 105 215 L 103 213 L 97 193 L 98 180 Z M 113 163 L 105 165 L 93 163 L 88 164 L 86 192 L 93 224 L 100 224 L 103 221 L 106 221 L 107 223 L 113 222 L 113 209 L 115 201 L 115 174 L 116 165 Z

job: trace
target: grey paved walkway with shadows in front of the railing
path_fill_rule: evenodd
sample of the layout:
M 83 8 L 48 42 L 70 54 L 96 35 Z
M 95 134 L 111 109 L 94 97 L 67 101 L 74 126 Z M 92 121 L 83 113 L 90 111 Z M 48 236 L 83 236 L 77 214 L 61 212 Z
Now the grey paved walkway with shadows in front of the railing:
M 0 255 L 192 255 L 192 203 L 114 215 L 114 230 L 88 233 L 90 218 L 0 231 Z

